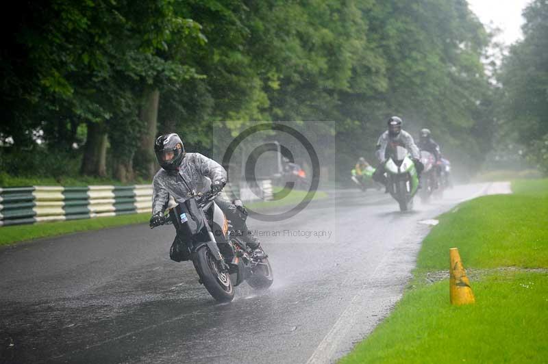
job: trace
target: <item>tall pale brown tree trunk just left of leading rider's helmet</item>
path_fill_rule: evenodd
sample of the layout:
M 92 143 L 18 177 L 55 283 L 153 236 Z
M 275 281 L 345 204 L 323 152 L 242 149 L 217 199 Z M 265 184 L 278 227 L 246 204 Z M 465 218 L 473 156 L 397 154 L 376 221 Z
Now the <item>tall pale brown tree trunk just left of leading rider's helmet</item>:
M 142 133 L 138 157 L 139 170 L 145 179 L 152 179 L 158 168 L 154 155 L 154 142 L 158 132 L 158 102 L 160 101 L 160 90 L 153 86 L 146 86 L 142 93 L 142 106 L 139 117 L 145 124 L 145 131 Z

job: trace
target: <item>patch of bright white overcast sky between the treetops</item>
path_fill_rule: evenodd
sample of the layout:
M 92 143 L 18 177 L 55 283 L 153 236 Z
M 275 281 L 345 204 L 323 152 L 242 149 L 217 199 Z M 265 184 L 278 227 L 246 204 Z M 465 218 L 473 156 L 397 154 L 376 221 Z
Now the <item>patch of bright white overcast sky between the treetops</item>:
M 449 0 L 451 1 L 451 0 Z M 493 22 L 503 34 L 500 40 L 510 45 L 521 38 L 523 18 L 521 11 L 530 3 L 530 0 L 468 0 L 470 8 L 482 23 L 488 25 Z

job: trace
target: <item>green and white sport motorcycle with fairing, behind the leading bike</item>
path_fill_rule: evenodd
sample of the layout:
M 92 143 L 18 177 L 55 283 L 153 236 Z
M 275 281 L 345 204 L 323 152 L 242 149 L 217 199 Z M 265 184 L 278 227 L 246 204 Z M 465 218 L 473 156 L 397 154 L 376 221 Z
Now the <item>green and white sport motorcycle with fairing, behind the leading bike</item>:
M 396 146 L 384 165 L 388 192 L 399 203 L 400 211 L 413 208 L 413 197 L 419 187 L 416 168 L 406 148 Z

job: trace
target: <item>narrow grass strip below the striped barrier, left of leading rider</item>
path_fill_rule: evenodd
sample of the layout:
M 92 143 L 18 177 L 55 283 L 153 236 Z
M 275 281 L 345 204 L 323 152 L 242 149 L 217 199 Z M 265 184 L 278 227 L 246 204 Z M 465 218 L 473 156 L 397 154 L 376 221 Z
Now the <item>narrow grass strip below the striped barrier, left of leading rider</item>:
M 16 225 L 0 227 L 0 246 L 23 242 L 40 237 L 55 237 L 78 231 L 106 229 L 114 226 L 142 224 L 149 222 L 150 213 L 109 216 L 86 220 L 42 222 L 33 225 Z

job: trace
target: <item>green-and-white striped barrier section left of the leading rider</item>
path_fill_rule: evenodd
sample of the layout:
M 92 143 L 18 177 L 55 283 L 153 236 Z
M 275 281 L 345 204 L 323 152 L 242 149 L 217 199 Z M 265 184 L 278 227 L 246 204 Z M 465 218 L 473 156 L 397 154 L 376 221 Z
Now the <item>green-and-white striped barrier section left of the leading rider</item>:
M 0 188 L 0 226 L 151 211 L 150 185 Z

